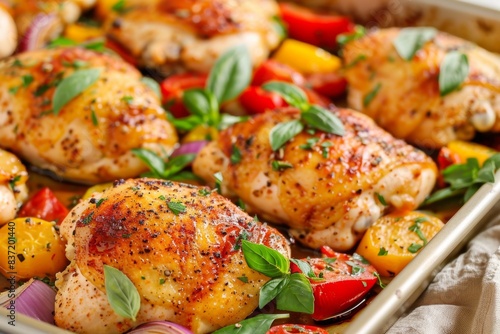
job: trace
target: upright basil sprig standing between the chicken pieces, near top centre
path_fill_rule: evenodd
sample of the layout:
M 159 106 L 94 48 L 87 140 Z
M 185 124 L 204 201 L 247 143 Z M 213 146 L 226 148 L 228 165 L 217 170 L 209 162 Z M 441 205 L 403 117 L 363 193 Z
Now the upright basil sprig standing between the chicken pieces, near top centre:
M 220 106 L 237 97 L 248 87 L 251 78 L 252 63 L 246 46 L 239 45 L 228 50 L 215 62 L 205 88 L 192 88 L 184 92 L 182 101 L 191 115 L 174 118 L 169 114 L 169 120 L 181 131 L 190 131 L 202 124 L 222 130 L 246 120 L 247 117 L 221 115 Z

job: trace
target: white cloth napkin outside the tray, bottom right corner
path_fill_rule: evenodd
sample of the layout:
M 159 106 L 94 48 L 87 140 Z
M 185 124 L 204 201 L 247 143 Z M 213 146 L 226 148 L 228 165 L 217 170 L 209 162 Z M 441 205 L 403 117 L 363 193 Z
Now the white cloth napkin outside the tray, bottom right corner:
M 387 334 L 500 334 L 500 214 Z

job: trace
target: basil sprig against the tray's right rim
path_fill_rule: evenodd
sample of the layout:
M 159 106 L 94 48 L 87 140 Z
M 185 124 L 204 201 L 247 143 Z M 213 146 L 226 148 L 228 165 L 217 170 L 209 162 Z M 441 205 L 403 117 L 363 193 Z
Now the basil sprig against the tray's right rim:
M 443 170 L 444 180 L 449 187 L 441 189 L 429 196 L 423 205 L 429 205 L 442 200 L 462 196 L 467 202 L 485 183 L 495 182 L 495 172 L 500 168 L 500 153 L 489 157 L 483 166 L 479 166 L 476 158 L 469 158 L 463 164 L 455 164 Z

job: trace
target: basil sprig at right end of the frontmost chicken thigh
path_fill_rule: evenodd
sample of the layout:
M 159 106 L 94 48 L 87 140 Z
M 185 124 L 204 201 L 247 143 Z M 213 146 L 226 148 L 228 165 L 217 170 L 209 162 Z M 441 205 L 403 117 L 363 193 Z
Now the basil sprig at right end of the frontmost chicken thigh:
M 241 248 L 250 268 L 271 277 L 260 290 L 259 308 L 276 299 L 279 310 L 308 314 L 314 312 L 311 283 L 305 274 L 290 273 L 290 261 L 287 258 L 274 249 L 247 240 L 241 241 Z M 310 268 L 304 270 L 308 275 L 312 272 Z

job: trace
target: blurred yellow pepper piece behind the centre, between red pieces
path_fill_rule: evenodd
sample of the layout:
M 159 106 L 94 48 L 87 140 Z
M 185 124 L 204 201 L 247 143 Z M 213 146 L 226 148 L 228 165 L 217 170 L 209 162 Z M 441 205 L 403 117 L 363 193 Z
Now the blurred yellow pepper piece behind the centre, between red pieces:
M 302 74 L 331 73 L 341 66 L 338 57 L 314 45 L 294 39 L 286 39 L 273 59 L 293 67 Z

